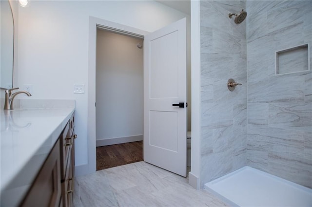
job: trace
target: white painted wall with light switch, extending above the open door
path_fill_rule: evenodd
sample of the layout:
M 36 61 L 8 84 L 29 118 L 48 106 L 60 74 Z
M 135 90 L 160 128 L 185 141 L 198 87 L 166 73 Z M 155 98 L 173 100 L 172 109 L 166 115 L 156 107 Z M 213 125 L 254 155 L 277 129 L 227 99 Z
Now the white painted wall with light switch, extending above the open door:
M 88 80 L 93 73 L 88 67 L 93 64 L 90 56 L 94 55 L 89 51 L 89 35 L 93 35 L 89 34 L 89 18 L 153 32 L 189 16 L 152 0 L 39 0 L 18 12 L 15 86 L 32 84 L 33 96 L 27 98 L 76 100 L 75 129 L 79 139 L 75 142 L 75 164 L 77 174 L 85 173 L 84 169 L 92 169 L 90 160 L 95 154 L 88 149 L 95 140 L 88 134 L 88 123 L 95 119 L 88 113 L 94 106 L 89 104 L 89 97 L 93 97 L 89 86 L 94 82 Z M 94 40 L 90 36 L 90 41 Z M 84 94 L 73 93 L 76 83 L 85 85 Z

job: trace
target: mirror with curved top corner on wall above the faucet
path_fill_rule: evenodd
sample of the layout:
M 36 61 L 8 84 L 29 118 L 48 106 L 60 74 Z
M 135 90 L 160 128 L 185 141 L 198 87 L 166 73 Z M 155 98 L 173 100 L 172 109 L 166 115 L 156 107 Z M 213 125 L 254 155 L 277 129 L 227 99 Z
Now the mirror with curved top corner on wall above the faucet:
M 0 0 L 0 88 L 13 88 L 14 20 L 10 2 Z

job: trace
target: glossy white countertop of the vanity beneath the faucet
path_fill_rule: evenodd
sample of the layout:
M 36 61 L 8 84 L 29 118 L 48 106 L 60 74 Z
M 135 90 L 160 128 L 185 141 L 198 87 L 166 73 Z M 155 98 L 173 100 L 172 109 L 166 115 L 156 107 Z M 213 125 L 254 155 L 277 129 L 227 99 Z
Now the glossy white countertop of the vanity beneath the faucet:
M 0 111 L 1 206 L 20 202 L 74 111 L 75 107 Z

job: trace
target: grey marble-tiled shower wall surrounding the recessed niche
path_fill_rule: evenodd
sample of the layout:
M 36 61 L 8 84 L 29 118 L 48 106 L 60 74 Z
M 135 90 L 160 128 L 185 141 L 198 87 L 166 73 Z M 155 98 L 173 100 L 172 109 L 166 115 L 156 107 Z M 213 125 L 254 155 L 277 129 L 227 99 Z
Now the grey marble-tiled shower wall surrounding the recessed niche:
M 312 188 L 312 73 L 275 75 L 276 51 L 309 43 L 312 54 L 312 1 L 247 1 L 246 11 L 247 165 Z

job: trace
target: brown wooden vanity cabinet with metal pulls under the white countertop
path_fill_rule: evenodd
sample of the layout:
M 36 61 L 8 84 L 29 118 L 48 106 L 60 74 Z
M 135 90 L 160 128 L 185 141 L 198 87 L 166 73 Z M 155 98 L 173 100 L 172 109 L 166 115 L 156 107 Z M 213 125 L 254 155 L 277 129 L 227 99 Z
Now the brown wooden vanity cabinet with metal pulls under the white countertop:
M 42 165 L 21 207 L 71 207 L 74 190 L 74 114 Z

